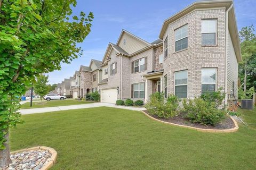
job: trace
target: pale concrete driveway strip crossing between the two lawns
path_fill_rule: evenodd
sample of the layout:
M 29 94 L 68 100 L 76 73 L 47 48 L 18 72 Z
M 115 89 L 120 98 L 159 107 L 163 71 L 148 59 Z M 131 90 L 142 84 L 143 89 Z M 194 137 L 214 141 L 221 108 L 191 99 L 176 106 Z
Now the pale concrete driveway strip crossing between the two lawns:
M 19 112 L 22 115 L 34 114 L 34 113 L 45 113 L 45 112 L 55 112 L 55 111 L 67 111 L 72 109 L 81 109 L 81 108 L 93 108 L 93 107 L 114 107 L 128 109 L 131 111 L 143 111 L 144 107 L 127 107 L 127 106 L 117 106 L 110 103 L 92 103 L 92 104 L 83 104 L 83 105 L 71 105 L 71 106 L 56 106 L 56 107 L 42 107 L 42 108 L 28 108 L 20 109 Z

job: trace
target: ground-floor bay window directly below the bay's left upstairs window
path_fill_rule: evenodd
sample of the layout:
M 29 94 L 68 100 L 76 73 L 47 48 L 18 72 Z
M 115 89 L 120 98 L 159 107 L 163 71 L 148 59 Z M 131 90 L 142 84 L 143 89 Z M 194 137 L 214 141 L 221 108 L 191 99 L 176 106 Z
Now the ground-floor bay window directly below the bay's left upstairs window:
M 175 77 L 175 96 L 187 98 L 188 96 L 188 71 L 178 71 L 174 73 Z

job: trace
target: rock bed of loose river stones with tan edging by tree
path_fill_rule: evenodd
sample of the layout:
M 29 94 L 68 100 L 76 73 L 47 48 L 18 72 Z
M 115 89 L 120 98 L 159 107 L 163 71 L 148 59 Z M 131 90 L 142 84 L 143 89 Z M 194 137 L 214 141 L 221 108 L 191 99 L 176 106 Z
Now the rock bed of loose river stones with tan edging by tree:
M 12 163 L 5 170 L 46 170 L 53 166 L 57 152 L 49 147 L 33 147 L 11 152 Z

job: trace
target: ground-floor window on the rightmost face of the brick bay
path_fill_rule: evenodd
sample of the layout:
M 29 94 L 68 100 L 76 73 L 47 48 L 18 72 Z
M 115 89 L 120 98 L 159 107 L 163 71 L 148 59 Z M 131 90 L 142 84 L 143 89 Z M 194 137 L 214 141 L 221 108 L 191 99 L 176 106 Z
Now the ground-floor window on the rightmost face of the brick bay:
M 216 73 L 215 68 L 202 69 L 202 94 L 216 91 Z

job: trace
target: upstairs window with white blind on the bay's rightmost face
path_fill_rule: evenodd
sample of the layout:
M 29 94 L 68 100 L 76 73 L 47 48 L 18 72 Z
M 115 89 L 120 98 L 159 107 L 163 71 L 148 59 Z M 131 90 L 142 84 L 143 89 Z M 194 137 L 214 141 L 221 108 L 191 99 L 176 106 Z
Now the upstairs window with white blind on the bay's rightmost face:
M 202 45 L 216 45 L 217 20 L 202 20 Z

